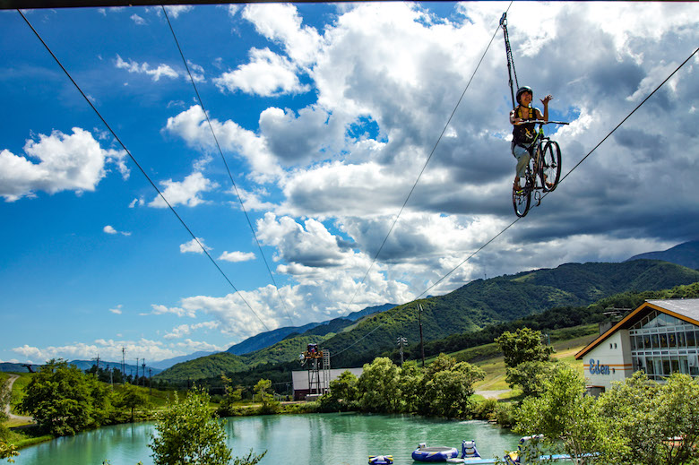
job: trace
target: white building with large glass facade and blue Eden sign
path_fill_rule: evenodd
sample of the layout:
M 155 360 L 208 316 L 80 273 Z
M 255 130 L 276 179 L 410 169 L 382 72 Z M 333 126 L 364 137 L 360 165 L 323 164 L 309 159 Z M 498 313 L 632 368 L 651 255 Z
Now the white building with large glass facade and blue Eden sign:
M 699 298 L 647 300 L 575 355 L 591 392 L 603 392 L 638 370 L 661 381 L 699 376 Z

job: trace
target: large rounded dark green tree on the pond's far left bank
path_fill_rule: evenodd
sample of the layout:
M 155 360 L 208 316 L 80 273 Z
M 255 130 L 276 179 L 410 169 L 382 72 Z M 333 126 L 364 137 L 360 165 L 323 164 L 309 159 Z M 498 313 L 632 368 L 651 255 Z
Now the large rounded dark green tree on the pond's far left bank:
M 41 366 L 19 409 L 52 435 L 74 435 L 102 425 L 111 415 L 108 387 L 63 359 Z

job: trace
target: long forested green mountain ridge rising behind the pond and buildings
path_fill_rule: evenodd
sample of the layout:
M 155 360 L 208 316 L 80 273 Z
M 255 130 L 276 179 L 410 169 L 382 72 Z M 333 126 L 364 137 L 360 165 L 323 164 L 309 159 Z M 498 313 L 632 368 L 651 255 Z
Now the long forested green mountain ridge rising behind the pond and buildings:
M 660 261 L 565 263 L 553 269 L 474 280 L 444 296 L 410 302 L 367 316 L 349 331 L 348 327 L 336 334 L 289 335 L 271 347 L 231 359 L 226 366 L 206 368 L 208 357 L 203 357 L 173 366 L 158 377 L 172 381 L 186 379 L 182 374 L 192 371 L 188 367 L 190 364 L 200 366 L 198 378 L 190 375 L 192 379 L 199 379 L 211 377 L 216 370 L 228 369 L 227 373 L 233 373 L 264 364 L 289 363 L 298 358 L 309 342 L 330 350 L 333 367 L 361 366 L 376 354 L 393 349 L 398 337 L 407 338 L 409 344 L 419 341 L 418 303 L 422 305 L 424 340 L 429 341 L 478 331 L 487 325 L 510 322 L 553 307 L 589 306 L 619 293 L 667 289 L 696 281 L 699 281 L 699 271 Z M 338 328 L 340 326 L 338 324 Z M 215 361 L 219 363 L 220 357 Z M 213 374 L 218 375 L 220 372 Z

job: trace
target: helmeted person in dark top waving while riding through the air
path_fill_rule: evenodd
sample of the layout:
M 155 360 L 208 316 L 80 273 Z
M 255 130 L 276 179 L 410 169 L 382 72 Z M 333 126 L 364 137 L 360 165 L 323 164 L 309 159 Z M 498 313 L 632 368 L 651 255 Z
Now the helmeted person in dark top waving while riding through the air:
M 517 159 L 517 168 L 514 174 L 514 189 L 519 190 L 520 177 L 524 176 L 524 172 L 529 165 L 531 159 L 530 147 L 531 142 L 536 139 L 536 128 L 534 123 L 526 123 L 531 120 L 548 121 L 548 102 L 553 99 L 551 94 L 548 94 L 541 103 L 544 105 L 544 114 L 538 108 L 531 107 L 531 99 L 534 97 L 534 92 L 531 87 L 521 87 L 517 90 L 517 108 L 510 112 L 510 123 L 513 125 L 512 132 L 512 154 Z

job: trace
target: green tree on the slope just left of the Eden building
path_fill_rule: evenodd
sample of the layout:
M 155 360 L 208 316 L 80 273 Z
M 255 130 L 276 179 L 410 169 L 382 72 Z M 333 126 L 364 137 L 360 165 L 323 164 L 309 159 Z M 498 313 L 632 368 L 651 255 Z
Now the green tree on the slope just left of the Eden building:
M 552 347 L 541 343 L 541 332 L 530 328 L 503 332 L 495 341 L 505 356 L 505 381 L 510 387 L 522 381 L 521 374 L 516 370 L 517 366 L 524 362 L 549 362 L 554 351 Z

